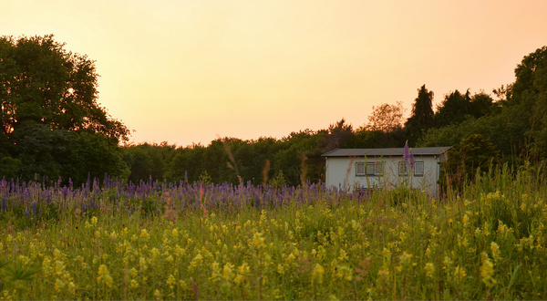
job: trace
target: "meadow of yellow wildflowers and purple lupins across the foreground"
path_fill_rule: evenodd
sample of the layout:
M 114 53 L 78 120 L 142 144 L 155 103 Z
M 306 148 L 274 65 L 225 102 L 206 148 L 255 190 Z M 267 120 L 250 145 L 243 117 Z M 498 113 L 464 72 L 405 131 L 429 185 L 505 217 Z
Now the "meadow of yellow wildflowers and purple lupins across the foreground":
M 0 182 L 0 299 L 547 299 L 543 169 L 433 200 Z

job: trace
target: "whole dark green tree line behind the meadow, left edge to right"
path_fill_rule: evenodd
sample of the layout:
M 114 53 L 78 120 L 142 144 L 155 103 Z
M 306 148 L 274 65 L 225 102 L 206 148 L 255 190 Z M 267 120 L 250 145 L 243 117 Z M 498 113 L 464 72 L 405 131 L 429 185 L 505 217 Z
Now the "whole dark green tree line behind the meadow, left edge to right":
M 418 88 L 410 117 L 400 102 L 373 107 L 354 129 L 340 119 L 282 139 L 219 138 L 207 146 L 127 145 L 129 130 L 98 104 L 94 61 L 54 36 L 0 37 L 0 177 L 59 177 L 77 184 L 105 173 L 122 181 L 298 185 L 325 179 L 335 148 L 453 146 L 446 171 L 461 184 L 491 163 L 547 159 L 547 47 L 515 68 L 516 80 L 487 94 L 454 90 L 433 108 Z

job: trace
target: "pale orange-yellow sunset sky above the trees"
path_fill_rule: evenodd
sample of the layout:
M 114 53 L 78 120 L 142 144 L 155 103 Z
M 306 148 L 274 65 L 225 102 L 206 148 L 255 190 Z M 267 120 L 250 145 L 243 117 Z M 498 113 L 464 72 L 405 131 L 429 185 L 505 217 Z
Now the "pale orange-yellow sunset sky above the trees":
M 0 0 L 0 35 L 53 34 L 95 60 L 98 102 L 133 143 L 282 139 L 426 85 L 514 82 L 547 45 L 547 1 Z

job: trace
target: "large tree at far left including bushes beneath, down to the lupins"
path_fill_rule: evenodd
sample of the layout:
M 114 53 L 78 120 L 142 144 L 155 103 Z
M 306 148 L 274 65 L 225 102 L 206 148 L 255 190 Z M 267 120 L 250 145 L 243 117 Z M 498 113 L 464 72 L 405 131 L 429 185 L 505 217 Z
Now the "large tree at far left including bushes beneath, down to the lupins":
M 119 142 L 129 130 L 99 106 L 95 62 L 64 46 L 0 36 L 0 178 L 127 173 Z

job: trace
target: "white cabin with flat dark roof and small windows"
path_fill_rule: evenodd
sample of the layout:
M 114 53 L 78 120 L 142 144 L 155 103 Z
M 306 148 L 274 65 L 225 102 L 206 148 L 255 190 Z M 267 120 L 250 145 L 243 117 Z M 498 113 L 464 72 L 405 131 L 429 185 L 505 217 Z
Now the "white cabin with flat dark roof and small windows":
M 438 198 L 440 162 L 447 160 L 449 148 L 410 149 L 414 165 L 405 160 L 404 148 L 331 150 L 322 155 L 326 186 L 352 191 L 408 185 Z

